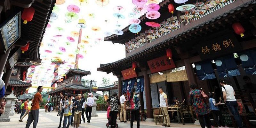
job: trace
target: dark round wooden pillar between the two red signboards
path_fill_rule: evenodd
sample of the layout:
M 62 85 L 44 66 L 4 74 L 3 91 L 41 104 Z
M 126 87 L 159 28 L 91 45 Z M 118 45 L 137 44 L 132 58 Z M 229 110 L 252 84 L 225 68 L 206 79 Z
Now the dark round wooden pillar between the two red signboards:
M 146 95 L 146 105 L 147 105 L 146 122 L 154 122 L 153 110 L 152 110 L 151 89 L 150 89 L 149 76 L 147 74 L 147 70 L 143 71 L 143 75 L 144 75 L 144 88 L 145 88 L 144 91 L 145 91 L 145 95 Z

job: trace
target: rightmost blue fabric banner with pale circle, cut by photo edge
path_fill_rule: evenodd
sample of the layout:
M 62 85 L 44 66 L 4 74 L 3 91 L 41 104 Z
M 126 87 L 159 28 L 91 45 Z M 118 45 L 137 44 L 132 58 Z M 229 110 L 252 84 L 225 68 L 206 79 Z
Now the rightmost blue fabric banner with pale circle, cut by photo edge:
M 241 53 L 237 53 L 242 66 L 248 75 L 256 74 L 256 50 L 248 50 Z

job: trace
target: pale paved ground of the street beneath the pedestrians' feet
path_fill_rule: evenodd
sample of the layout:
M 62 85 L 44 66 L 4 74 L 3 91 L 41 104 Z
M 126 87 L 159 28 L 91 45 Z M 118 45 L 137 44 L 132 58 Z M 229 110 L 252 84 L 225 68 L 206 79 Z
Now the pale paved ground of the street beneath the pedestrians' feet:
M 79 128 L 85 128 L 85 127 L 90 127 L 90 128 L 96 128 L 96 127 L 106 127 L 107 119 L 106 119 L 106 112 L 105 111 L 100 111 L 97 113 L 99 117 L 92 117 L 91 123 L 82 123 L 80 124 Z M 60 117 L 57 117 L 57 112 L 47 112 L 45 113 L 44 110 L 39 111 L 39 121 L 37 124 L 37 127 L 58 127 L 59 126 L 59 121 Z M 10 116 L 11 121 L 10 122 L 1 122 L 0 123 L 0 128 L 6 128 L 6 127 L 25 127 L 26 126 L 26 121 L 28 117 L 25 117 L 23 119 L 23 122 L 18 122 L 20 118 L 20 114 L 15 114 L 14 116 Z M 120 123 L 120 120 L 117 120 L 118 122 L 118 127 L 119 128 L 124 128 L 130 127 L 130 122 L 127 123 Z M 62 125 L 63 125 L 63 120 L 62 120 Z M 62 126 L 61 125 L 61 126 Z M 33 123 L 30 125 L 30 127 L 33 127 Z M 71 127 L 71 126 L 69 126 Z M 133 123 L 133 127 L 137 127 L 136 122 Z M 163 128 L 160 124 L 155 124 L 154 122 L 140 122 L 140 127 L 148 127 L 148 128 Z M 192 128 L 192 127 L 200 127 L 194 124 L 179 124 L 179 123 L 171 123 L 171 127 L 187 127 L 187 128 Z

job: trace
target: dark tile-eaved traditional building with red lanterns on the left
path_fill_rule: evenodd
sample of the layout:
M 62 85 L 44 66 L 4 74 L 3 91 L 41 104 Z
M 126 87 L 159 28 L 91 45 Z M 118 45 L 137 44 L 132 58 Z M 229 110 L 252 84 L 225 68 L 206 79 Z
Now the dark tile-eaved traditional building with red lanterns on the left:
M 10 80 L 12 70 L 16 62 L 41 62 L 39 46 L 55 3 L 56 0 L 0 1 L 0 75 L 4 72 L 5 89 L 9 89 L 8 85 L 30 85 Z M 23 13 L 25 17 L 21 16 Z

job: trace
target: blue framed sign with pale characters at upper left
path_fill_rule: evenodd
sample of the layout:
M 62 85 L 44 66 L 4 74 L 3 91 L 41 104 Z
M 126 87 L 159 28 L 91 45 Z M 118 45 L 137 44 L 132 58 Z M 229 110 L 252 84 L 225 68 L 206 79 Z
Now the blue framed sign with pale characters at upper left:
M 4 51 L 20 38 L 20 12 L 0 25 L 0 38 Z

